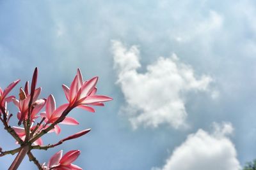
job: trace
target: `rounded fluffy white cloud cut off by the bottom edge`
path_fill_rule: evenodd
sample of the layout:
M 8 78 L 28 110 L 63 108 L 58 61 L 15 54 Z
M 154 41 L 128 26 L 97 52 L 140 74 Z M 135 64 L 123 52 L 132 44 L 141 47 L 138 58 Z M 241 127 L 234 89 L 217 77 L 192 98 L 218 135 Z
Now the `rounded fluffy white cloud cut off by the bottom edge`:
M 232 125 L 214 124 L 211 134 L 199 129 L 190 134 L 186 141 L 176 148 L 162 168 L 152 170 L 238 170 L 236 148 L 227 137 L 233 131 Z

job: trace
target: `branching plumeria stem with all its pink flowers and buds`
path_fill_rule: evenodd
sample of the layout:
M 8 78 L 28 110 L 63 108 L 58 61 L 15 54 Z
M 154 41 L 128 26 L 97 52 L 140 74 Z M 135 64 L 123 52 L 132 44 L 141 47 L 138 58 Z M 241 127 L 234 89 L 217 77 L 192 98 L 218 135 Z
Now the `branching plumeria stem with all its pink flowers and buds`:
M 52 145 L 43 145 L 42 136 L 48 132 L 56 132 L 60 134 L 61 128 L 59 124 L 78 125 L 79 122 L 75 118 L 67 117 L 68 113 L 74 108 L 81 108 L 86 111 L 95 112 L 92 106 L 104 106 L 104 102 L 111 101 L 111 97 L 97 95 L 96 84 L 98 77 L 84 81 L 80 69 L 77 69 L 77 74 L 72 81 L 70 88 L 67 85 L 62 85 L 67 103 L 56 107 L 56 101 L 51 94 L 47 98 L 40 99 L 41 87 L 36 87 L 38 70 L 34 71 L 31 86 L 29 90 L 29 81 L 26 81 L 24 89 L 20 88 L 19 98 L 8 96 L 11 90 L 19 83 L 20 80 L 13 81 L 6 89 L 0 88 L 0 120 L 3 122 L 4 129 L 9 132 L 19 148 L 9 151 L 0 150 L 0 157 L 7 154 L 17 154 L 15 160 L 10 166 L 10 170 L 17 169 L 20 162 L 28 155 L 29 160 L 33 161 L 38 169 L 82 169 L 72 162 L 77 159 L 80 154 L 79 150 L 71 150 L 62 157 L 62 150 L 55 153 L 48 164 L 40 164 L 35 158 L 31 150 L 40 149 L 48 150 L 55 146 L 61 145 L 63 142 L 70 139 L 75 139 L 90 132 L 90 129 L 77 132 L 67 138 L 61 139 L 58 143 Z M 9 120 L 13 116 L 9 114 L 7 109 L 8 103 L 13 102 L 18 108 L 17 118 L 18 127 L 10 126 Z M 42 111 L 44 110 L 44 111 Z M 20 127 L 22 126 L 22 127 Z

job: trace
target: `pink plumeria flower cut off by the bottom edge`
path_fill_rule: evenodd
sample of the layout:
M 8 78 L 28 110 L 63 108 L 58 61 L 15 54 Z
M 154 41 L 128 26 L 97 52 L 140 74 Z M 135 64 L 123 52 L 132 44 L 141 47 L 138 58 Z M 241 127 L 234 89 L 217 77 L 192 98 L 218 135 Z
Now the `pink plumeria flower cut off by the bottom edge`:
M 79 150 L 70 150 L 63 157 L 62 153 L 62 150 L 55 153 L 49 160 L 47 166 L 43 164 L 43 168 L 47 170 L 83 170 L 81 167 L 72 164 L 80 155 Z

